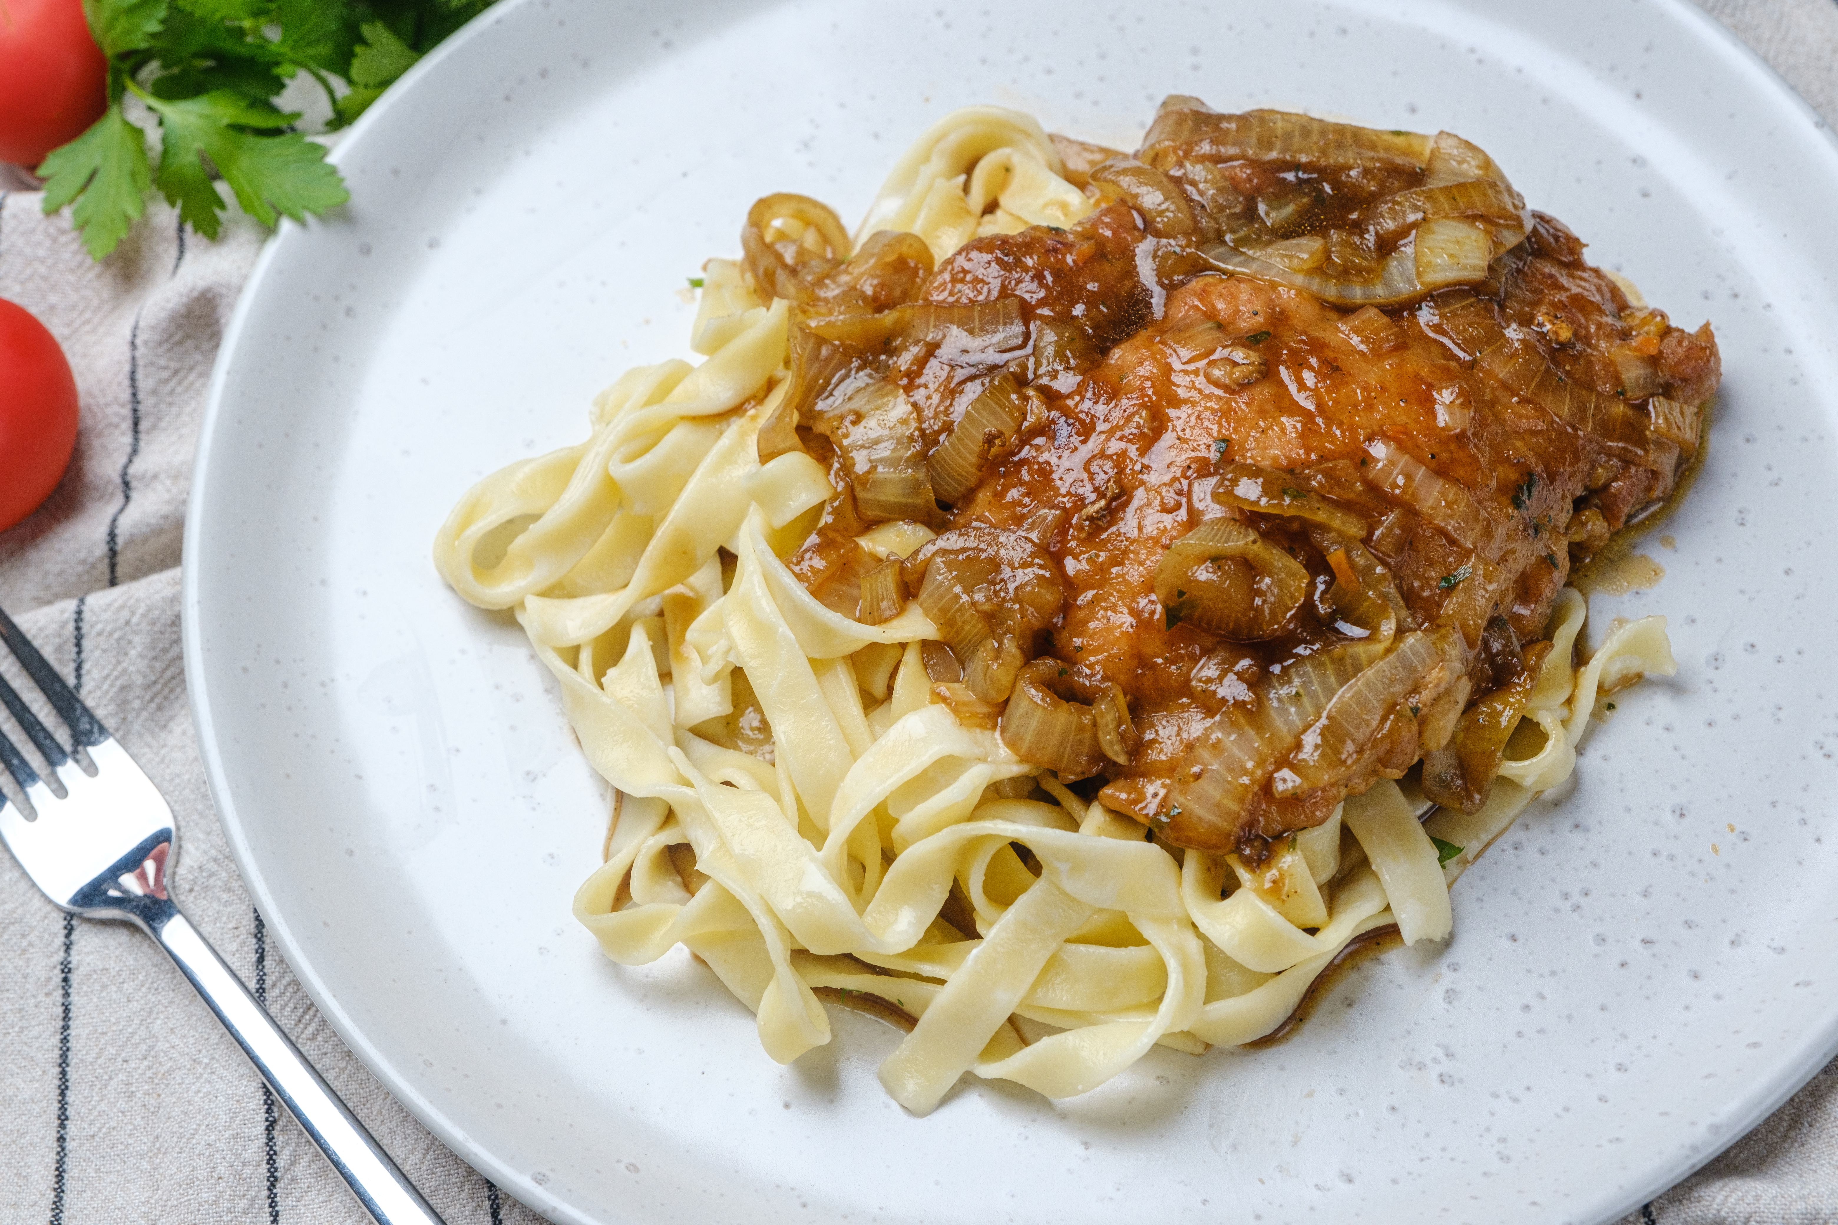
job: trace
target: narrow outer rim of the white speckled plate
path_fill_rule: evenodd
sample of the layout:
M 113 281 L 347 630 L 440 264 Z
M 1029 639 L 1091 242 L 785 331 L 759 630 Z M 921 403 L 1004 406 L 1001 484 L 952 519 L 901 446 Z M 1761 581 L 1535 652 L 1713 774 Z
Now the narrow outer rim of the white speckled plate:
M 373 129 L 391 123 L 397 112 L 404 110 L 406 105 L 412 105 L 415 90 L 421 86 L 423 79 L 443 72 L 450 59 L 460 55 L 472 42 L 483 39 L 487 31 L 511 20 L 513 13 L 520 13 L 522 9 L 535 7 L 542 2 L 544 0 L 498 0 L 498 4 L 491 9 L 474 17 L 434 51 L 423 55 L 415 64 L 412 64 L 397 84 L 377 99 L 377 103 L 373 103 L 364 116 L 360 116 L 358 121 L 342 134 L 338 143 L 327 152 L 327 162 L 342 165 L 344 160 L 355 156 L 353 151 L 362 149 L 364 138 Z M 1483 17 L 1491 7 L 1487 0 L 1443 2 L 1452 7 L 1478 9 Z M 1693 0 L 1654 0 L 1654 4 L 1665 18 L 1678 22 L 1700 42 L 1709 44 L 1709 48 L 1719 53 L 1719 59 L 1730 64 L 1730 68 L 1748 75 L 1763 96 L 1772 97 L 1776 105 L 1785 101 L 1788 112 L 1810 127 L 1810 130 L 1820 138 L 1820 156 L 1825 158 L 1831 176 L 1838 180 L 1838 129 L 1827 123 L 1825 118 L 1814 110 L 1812 105 L 1774 68 L 1774 64 L 1737 37 L 1733 29 L 1711 17 L 1711 13 L 1702 9 L 1698 4 L 1693 4 Z M 255 299 L 263 294 L 270 268 L 283 257 L 285 250 L 290 248 L 292 242 L 301 241 L 298 235 L 303 233 L 307 233 L 307 226 L 283 219 L 274 235 L 265 241 L 261 253 L 250 268 L 248 279 L 237 294 L 235 309 L 224 327 L 222 340 L 219 342 L 217 356 L 211 365 L 210 382 L 206 386 L 206 404 L 199 421 L 199 441 L 193 452 L 191 487 L 186 496 L 180 566 L 180 643 L 184 652 L 186 698 L 191 707 L 199 757 L 204 764 L 204 775 L 210 786 L 217 821 L 224 832 L 237 872 L 268 929 L 268 938 L 279 948 L 296 981 L 307 992 L 307 997 L 312 1001 L 314 1008 L 318 1008 L 320 1016 L 325 1017 L 338 1040 L 353 1056 L 357 1056 L 364 1069 L 377 1078 L 384 1091 L 408 1109 L 408 1113 L 414 1115 L 421 1126 L 432 1131 L 448 1150 L 452 1150 L 454 1155 L 489 1177 L 500 1190 L 511 1192 L 524 1207 L 566 1225 L 605 1225 L 601 1218 L 581 1214 L 572 1205 L 548 1194 L 542 1185 L 529 1177 L 528 1172 L 513 1170 L 500 1157 L 474 1142 L 472 1137 L 439 1106 L 436 1106 L 426 1095 L 415 1091 L 412 1084 L 397 1073 L 395 1063 L 369 1041 L 357 1023 L 353 1023 L 336 995 L 325 988 L 312 959 L 301 948 L 287 918 L 276 911 L 274 898 L 263 872 L 255 865 L 254 849 L 244 834 L 243 819 L 237 812 L 237 803 L 233 799 L 224 764 L 226 755 L 217 736 L 217 720 L 206 689 L 197 558 L 202 549 L 202 511 L 206 500 L 210 498 L 213 476 L 213 437 L 222 428 L 222 421 L 226 417 L 224 402 L 230 367 L 237 360 L 237 351 L 244 340 L 250 316 L 255 310 Z M 1790 1073 L 1781 1076 L 1770 1093 L 1753 1098 L 1750 1109 L 1741 1115 L 1733 1115 L 1730 1126 L 1720 1137 L 1717 1137 L 1717 1141 L 1706 1144 L 1696 1153 L 1689 1150 L 1674 1153 L 1671 1161 L 1651 1166 L 1647 1177 L 1630 1179 L 1630 1183 L 1641 1190 L 1616 1201 L 1617 1207 L 1601 1216 L 1601 1221 L 1606 1225 L 1621 1219 L 1667 1190 L 1678 1186 L 1695 1172 L 1702 1170 L 1728 1148 L 1746 1139 L 1764 1118 L 1774 1115 L 1788 1098 L 1799 1093 L 1799 1089 L 1803 1089 L 1834 1058 L 1838 1058 L 1838 1021 L 1829 1025 L 1823 1036 L 1814 1032 L 1809 1041 L 1803 1043 L 1799 1060 L 1788 1063 Z

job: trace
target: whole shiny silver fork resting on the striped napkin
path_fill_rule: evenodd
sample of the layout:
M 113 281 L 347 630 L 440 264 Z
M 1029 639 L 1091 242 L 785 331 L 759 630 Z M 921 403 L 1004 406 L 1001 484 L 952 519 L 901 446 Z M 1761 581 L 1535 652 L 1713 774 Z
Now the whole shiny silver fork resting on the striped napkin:
M 0 705 L 50 764 L 40 777 L 0 731 L 0 764 L 29 804 L 22 808 L 0 792 L 0 841 L 59 909 L 125 920 L 160 942 L 379 1225 L 441 1225 L 300 1047 L 178 911 L 169 893 L 178 830 L 160 790 L 4 610 L 0 639 L 70 725 L 72 740 L 66 749 L 0 676 Z

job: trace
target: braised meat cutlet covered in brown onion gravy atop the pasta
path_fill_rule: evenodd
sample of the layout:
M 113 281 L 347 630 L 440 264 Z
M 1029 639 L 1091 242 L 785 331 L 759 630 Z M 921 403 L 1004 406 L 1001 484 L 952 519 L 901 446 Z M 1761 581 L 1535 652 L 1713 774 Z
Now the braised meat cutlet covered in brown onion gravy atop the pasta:
M 1173 843 L 1261 858 L 1419 760 L 1474 810 L 1571 564 L 1698 444 L 1709 325 L 1448 134 L 1169 99 L 1062 152 L 1075 226 L 801 309 L 792 424 L 849 494 L 794 569 L 853 613 L 855 533 L 941 531 L 897 575 L 939 696 Z

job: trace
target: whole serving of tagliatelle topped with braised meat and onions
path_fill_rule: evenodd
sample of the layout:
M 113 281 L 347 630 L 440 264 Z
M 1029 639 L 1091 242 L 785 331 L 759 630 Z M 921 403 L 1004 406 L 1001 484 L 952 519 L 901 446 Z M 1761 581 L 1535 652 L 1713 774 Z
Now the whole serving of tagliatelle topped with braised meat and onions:
M 1452 136 L 1169 99 L 1136 154 L 961 110 L 851 237 L 759 200 L 691 349 L 460 500 L 614 788 L 575 916 L 790 1062 L 1084 1093 L 1281 1027 L 1562 782 L 1663 619 L 1573 558 L 1674 489 L 1717 349 Z M 1424 812 L 1428 817 L 1424 819 Z

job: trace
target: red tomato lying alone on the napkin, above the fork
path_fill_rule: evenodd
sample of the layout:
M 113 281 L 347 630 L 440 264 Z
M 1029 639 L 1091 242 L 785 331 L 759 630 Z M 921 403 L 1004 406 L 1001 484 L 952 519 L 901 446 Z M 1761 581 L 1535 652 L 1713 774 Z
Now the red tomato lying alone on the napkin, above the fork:
M 64 351 L 29 310 L 0 298 L 0 531 L 51 496 L 75 444 L 77 380 Z

